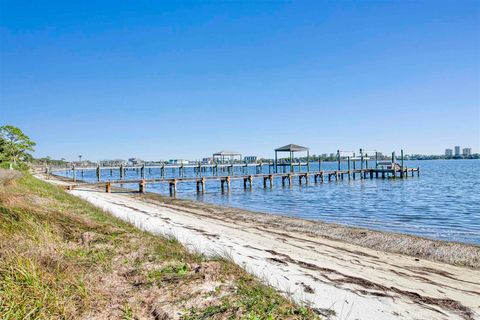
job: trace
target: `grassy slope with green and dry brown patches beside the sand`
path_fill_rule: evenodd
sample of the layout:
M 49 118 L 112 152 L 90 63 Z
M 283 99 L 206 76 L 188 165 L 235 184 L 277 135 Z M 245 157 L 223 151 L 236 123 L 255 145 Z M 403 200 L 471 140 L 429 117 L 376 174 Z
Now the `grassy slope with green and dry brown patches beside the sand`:
M 225 259 L 187 252 L 61 188 L 0 184 L 0 318 L 314 319 Z

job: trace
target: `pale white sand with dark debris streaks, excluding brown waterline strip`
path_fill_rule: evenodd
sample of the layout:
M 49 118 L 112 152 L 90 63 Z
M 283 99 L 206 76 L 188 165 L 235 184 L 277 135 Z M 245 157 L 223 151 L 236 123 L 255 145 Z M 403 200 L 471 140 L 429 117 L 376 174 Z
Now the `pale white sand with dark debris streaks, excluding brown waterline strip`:
M 137 199 L 73 194 L 192 250 L 230 256 L 271 285 L 337 319 L 480 319 L 480 271 Z

